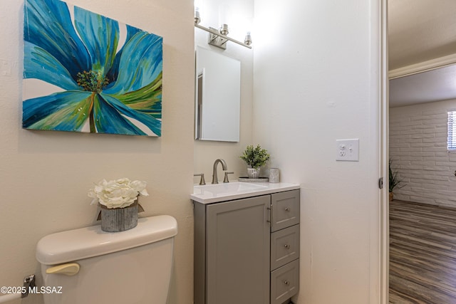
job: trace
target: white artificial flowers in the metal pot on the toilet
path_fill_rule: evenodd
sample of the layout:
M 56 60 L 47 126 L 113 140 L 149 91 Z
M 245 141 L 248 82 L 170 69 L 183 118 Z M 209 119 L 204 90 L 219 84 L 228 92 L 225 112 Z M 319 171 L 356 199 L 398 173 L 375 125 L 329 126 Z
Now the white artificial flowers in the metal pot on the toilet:
M 146 182 L 127 178 L 112 181 L 103 179 L 89 190 L 88 196 L 93 198 L 90 204 L 100 203 L 108 209 L 125 208 L 133 204 L 140 194 L 149 196 L 145 187 Z

